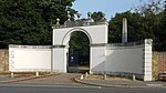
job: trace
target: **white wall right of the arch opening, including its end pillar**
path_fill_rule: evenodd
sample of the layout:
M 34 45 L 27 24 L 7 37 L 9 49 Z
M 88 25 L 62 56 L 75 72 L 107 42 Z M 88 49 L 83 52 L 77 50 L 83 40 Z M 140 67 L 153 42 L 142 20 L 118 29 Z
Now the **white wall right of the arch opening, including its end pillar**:
M 152 81 L 152 40 L 117 45 L 105 44 L 91 48 L 91 73 L 133 76 Z

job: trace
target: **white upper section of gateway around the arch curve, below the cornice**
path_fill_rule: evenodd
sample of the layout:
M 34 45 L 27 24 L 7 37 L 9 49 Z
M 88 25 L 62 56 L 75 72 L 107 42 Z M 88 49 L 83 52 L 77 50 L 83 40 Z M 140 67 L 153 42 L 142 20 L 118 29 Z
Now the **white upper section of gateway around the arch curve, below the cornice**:
M 53 29 L 53 45 L 66 45 L 74 31 L 84 32 L 91 44 L 107 43 L 107 24 Z

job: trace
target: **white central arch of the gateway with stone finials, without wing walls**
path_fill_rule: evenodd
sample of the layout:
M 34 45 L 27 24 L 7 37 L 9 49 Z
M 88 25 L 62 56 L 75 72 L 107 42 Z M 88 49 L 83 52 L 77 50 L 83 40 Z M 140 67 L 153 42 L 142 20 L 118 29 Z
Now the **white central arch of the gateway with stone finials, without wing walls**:
M 94 63 L 104 61 L 105 55 L 100 55 L 105 53 L 107 25 L 105 20 L 93 22 L 90 16 L 86 20 L 68 20 L 64 25 L 56 23 L 53 27 L 53 71 L 68 72 L 69 42 L 71 34 L 77 31 L 86 34 L 90 41 L 90 72 L 95 68 Z

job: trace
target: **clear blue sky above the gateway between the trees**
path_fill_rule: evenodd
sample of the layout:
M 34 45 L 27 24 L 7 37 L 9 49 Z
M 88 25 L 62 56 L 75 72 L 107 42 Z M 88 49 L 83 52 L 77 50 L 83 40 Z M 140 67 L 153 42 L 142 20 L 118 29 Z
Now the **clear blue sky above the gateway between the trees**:
M 82 13 L 82 18 L 87 18 L 87 12 L 102 11 L 110 20 L 115 13 L 124 12 L 147 1 L 149 0 L 75 0 L 72 8 Z

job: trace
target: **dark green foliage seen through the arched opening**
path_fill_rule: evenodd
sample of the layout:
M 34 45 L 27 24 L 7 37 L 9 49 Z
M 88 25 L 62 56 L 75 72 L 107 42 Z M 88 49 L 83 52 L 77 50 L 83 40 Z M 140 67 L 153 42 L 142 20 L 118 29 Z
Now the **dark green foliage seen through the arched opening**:
M 80 62 L 90 62 L 90 40 L 83 32 L 73 32 L 70 40 L 70 53 L 79 54 Z

